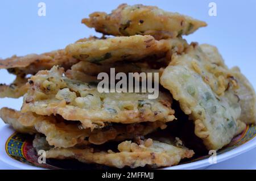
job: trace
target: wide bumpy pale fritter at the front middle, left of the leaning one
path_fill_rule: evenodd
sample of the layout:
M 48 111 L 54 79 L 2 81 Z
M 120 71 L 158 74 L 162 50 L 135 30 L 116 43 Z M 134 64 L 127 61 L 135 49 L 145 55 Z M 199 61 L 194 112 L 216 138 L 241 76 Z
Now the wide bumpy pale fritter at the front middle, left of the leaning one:
M 148 94 L 100 93 L 97 87 L 62 77 L 63 69 L 54 66 L 32 76 L 31 88 L 24 96 L 22 112 L 38 115 L 59 114 L 66 120 L 81 121 L 84 128 L 104 127 L 111 123 L 139 123 L 174 120 L 169 95 L 159 92 L 158 99 Z

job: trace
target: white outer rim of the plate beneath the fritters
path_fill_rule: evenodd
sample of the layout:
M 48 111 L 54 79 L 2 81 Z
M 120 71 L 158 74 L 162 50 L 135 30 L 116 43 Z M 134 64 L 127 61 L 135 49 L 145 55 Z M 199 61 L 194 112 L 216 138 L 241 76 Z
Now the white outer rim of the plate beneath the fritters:
M 250 149 L 253 149 L 256 147 L 256 138 L 252 135 L 255 135 L 255 127 L 248 127 L 247 130 L 243 133 L 242 136 L 239 138 L 236 138 L 235 141 L 236 144 L 240 143 L 240 145 L 236 145 L 233 143 L 233 145 L 228 146 L 224 150 L 221 150 L 220 153 L 217 153 L 217 163 L 220 163 L 222 161 L 225 161 L 227 159 L 236 157 L 239 154 L 245 153 L 246 151 L 249 151 Z M 8 138 L 14 134 L 14 130 L 5 125 L 4 127 L 0 128 L 1 133 L 1 140 L 0 140 L 0 160 L 7 165 L 13 167 L 13 169 L 44 169 L 42 167 L 32 166 L 28 165 L 26 163 L 22 163 L 20 161 L 17 161 L 13 158 L 11 158 L 7 152 L 6 152 L 6 141 Z M 250 140 L 246 140 L 248 137 L 248 134 L 250 134 Z M 237 141 L 238 140 L 238 141 Z M 241 142 L 242 141 L 242 142 Z M 228 151 L 227 151 L 228 149 Z M 199 159 L 199 160 L 198 160 Z M 164 170 L 168 169 L 203 169 L 207 166 L 210 166 L 210 163 L 208 161 L 208 158 L 197 158 L 196 161 L 192 161 L 189 163 L 183 163 L 181 165 L 172 166 L 172 167 L 166 167 Z

